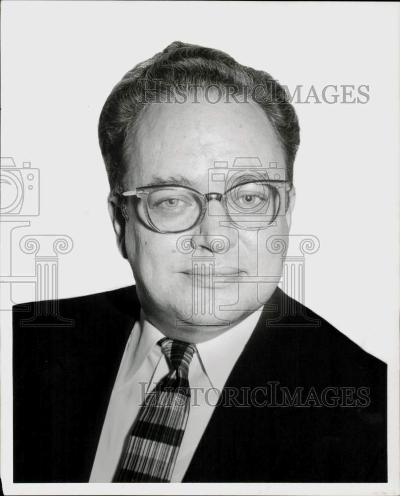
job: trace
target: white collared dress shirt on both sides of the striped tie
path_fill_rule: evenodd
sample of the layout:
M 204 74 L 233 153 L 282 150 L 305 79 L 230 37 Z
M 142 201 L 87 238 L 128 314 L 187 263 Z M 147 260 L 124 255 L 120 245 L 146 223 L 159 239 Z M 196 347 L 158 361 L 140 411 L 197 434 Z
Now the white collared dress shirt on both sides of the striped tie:
M 261 309 L 220 336 L 196 345 L 189 367 L 189 417 L 171 482 L 182 481 L 229 373 L 260 315 Z M 89 482 L 112 482 L 144 394 L 170 372 L 157 344 L 163 337 L 141 312 L 122 356 Z

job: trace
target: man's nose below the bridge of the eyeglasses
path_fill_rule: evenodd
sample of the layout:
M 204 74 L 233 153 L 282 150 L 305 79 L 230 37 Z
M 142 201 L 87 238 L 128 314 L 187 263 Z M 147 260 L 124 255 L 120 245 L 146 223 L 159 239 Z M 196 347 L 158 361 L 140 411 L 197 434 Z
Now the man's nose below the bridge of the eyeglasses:
M 228 240 L 227 249 L 237 245 L 237 230 L 229 224 L 229 217 L 218 200 L 209 201 L 206 213 L 197 226 L 195 234 L 197 248 L 205 248 L 216 253 L 219 250 L 219 244 L 216 243 L 218 236 L 223 236 L 225 240 Z

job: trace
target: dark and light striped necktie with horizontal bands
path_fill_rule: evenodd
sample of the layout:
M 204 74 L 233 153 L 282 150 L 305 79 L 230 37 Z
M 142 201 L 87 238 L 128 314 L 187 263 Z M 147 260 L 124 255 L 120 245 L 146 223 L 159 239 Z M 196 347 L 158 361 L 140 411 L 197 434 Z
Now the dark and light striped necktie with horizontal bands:
M 157 344 L 171 372 L 146 395 L 115 482 L 170 482 L 190 406 L 188 372 L 194 344 L 168 338 Z

